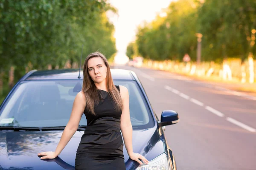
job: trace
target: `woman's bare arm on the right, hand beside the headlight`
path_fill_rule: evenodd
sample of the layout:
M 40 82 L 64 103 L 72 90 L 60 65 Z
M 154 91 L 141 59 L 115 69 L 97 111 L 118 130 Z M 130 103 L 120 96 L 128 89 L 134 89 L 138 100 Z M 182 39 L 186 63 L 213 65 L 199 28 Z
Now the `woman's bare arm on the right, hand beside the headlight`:
M 144 156 L 140 155 L 139 153 L 134 153 L 132 148 L 132 126 L 131 126 L 131 119 L 130 119 L 130 110 L 129 110 L 129 92 L 125 86 L 120 87 L 120 94 L 122 97 L 122 115 L 121 115 L 121 131 L 122 136 L 125 142 L 125 148 L 129 157 L 142 164 L 139 160 L 143 160 L 146 164 L 148 164 L 148 160 L 145 159 Z

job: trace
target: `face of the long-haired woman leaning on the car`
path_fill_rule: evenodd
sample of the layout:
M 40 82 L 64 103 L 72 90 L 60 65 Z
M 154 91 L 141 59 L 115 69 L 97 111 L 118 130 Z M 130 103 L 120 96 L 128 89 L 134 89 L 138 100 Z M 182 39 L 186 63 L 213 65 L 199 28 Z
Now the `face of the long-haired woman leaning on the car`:
M 88 60 L 87 70 L 89 76 L 95 83 L 100 83 L 107 77 L 107 67 L 100 57 L 93 57 Z

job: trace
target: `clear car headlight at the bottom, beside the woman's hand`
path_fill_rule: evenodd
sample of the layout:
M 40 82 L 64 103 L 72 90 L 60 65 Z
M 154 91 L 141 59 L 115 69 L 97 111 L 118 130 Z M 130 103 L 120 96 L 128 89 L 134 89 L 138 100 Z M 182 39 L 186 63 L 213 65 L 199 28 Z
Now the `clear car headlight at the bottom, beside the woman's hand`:
M 162 153 L 148 164 L 143 163 L 136 170 L 170 170 L 167 155 Z

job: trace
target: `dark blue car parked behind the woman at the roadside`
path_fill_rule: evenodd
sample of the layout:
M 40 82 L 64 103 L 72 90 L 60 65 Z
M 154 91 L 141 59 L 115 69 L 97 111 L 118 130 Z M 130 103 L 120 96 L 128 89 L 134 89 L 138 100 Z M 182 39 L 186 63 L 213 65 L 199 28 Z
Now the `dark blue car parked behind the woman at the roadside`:
M 163 111 L 159 121 L 134 72 L 111 69 L 111 74 L 115 85 L 123 85 L 129 91 L 134 152 L 149 161 L 148 165 L 139 165 L 129 159 L 124 147 L 126 169 L 176 170 L 162 127 L 177 123 L 178 114 Z M 17 82 L 0 106 L 1 170 L 75 170 L 76 150 L 87 124 L 84 115 L 58 157 L 41 160 L 37 154 L 55 150 L 75 96 L 81 91 L 83 77 L 78 77 L 75 69 L 34 70 Z

